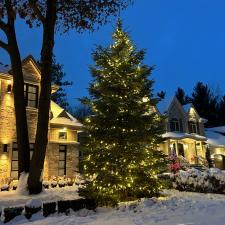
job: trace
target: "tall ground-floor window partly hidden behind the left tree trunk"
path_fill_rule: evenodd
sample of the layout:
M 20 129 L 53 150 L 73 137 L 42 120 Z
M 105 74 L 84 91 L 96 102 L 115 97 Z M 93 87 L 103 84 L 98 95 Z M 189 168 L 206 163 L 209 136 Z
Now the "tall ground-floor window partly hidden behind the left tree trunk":
M 34 144 L 30 144 L 30 159 L 34 152 Z M 12 148 L 12 164 L 11 164 L 11 177 L 18 179 L 19 177 L 19 165 L 18 165 L 18 146 L 17 143 L 13 143 Z

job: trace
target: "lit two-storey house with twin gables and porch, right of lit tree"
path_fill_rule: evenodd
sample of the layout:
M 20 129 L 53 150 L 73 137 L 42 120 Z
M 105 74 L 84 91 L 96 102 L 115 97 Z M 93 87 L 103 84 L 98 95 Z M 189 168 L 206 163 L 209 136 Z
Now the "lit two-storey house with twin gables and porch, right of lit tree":
M 201 164 L 205 158 L 207 138 L 204 123 L 207 120 L 199 116 L 192 104 L 182 106 L 175 96 L 160 101 L 157 109 L 166 116 L 160 150 L 167 155 L 175 152 L 191 164 Z

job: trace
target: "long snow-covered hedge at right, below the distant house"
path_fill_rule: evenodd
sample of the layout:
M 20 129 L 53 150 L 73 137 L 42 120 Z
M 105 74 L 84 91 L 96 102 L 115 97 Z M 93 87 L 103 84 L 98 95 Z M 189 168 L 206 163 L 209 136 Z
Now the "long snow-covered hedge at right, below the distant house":
M 220 169 L 211 168 L 203 172 L 197 169 L 179 171 L 171 175 L 173 187 L 180 191 L 204 193 L 224 193 L 225 173 Z

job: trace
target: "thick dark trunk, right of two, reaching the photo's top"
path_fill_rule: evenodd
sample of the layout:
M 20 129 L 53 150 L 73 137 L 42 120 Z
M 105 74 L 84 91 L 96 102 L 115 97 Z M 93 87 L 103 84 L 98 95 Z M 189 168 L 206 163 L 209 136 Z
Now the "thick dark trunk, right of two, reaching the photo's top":
M 46 18 L 43 23 L 43 43 L 41 50 L 41 92 L 38 106 L 38 122 L 35 149 L 28 177 L 30 194 L 42 191 L 42 172 L 48 143 L 49 109 L 51 98 L 51 67 L 56 23 L 56 1 L 47 1 Z

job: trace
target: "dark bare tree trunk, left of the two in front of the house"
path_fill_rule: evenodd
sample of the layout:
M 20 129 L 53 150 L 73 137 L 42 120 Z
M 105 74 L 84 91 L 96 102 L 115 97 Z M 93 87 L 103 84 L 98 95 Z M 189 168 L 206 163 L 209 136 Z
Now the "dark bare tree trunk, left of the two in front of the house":
M 6 36 L 8 39 L 8 52 L 10 55 L 13 73 L 13 93 L 19 161 L 18 169 L 20 175 L 22 172 L 29 172 L 30 148 L 26 116 L 26 102 L 24 99 L 24 78 L 20 52 L 16 40 L 14 19 L 9 18 L 8 20 Z

